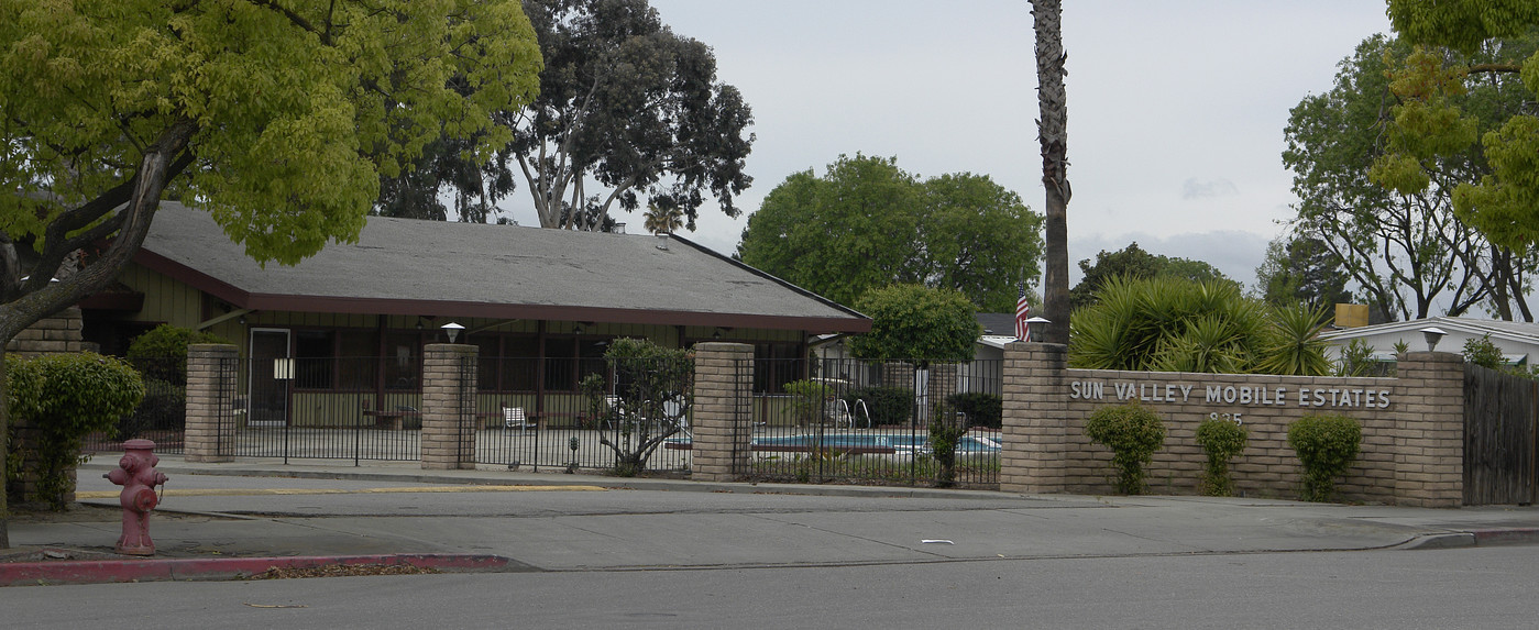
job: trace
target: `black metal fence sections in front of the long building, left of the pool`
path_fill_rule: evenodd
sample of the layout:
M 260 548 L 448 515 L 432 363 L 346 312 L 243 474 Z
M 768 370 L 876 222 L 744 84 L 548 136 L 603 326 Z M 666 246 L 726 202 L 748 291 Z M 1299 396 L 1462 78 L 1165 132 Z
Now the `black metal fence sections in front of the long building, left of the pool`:
M 228 410 L 235 430 L 220 453 L 285 463 L 422 459 L 420 384 L 417 378 L 377 378 L 391 361 L 226 361 L 219 378 L 232 378 L 239 393 Z M 488 366 L 497 369 L 494 378 L 486 376 Z M 659 375 L 659 367 L 665 366 L 645 360 L 465 360 L 462 380 L 477 387 L 459 393 L 460 409 L 472 410 L 460 423 L 476 439 L 460 459 L 531 470 L 688 470 L 689 450 L 666 446 L 688 436 L 691 370 L 666 366 Z M 469 370 L 479 378 L 469 380 Z M 85 452 L 117 452 L 131 438 L 154 439 L 162 453 L 185 452 L 185 376 L 174 383 L 142 373 L 151 393 L 140 409 L 115 432 L 92 435 Z M 585 381 L 593 386 L 588 392 L 580 387 Z

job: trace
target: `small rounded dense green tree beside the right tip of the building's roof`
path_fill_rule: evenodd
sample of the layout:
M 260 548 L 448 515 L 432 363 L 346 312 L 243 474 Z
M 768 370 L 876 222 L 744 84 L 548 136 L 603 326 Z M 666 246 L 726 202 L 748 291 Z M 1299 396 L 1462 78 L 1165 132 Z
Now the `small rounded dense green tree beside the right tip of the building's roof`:
M 968 361 L 983 333 L 973 303 L 948 289 L 894 284 L 862 295 L 856 309 L 871 317 L 871 332 L 850 340 L 857 358 Z

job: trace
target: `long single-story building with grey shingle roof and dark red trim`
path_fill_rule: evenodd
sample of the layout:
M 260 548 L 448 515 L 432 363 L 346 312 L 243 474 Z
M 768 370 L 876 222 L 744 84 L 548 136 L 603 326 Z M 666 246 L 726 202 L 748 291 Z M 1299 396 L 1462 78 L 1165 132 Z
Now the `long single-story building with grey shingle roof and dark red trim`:
M 86 341 L 105 353 L 162 323 L 235 344 L 252 361 L 252 419 L 279 407 L 263 393 L 274 380 L 295 393 L 379 392 L 376 404 L 412 392 L 423 346 L 448 341 L 451 323 L 463 326 L 457 343 L 479 346 L 482 392 L 539 395 L 576 392 L 619 337 L 753 344 L 757 358 L 786 360 L 756 373 L 756 387 L 773 390 L 802 378 L 796 360 L 816 335 L 871 329 L 859 312 L 673 235 L 371 217 L 357 243 L 262 266 L 208 212 L 172 201 L 119 284 L 82 310 Z

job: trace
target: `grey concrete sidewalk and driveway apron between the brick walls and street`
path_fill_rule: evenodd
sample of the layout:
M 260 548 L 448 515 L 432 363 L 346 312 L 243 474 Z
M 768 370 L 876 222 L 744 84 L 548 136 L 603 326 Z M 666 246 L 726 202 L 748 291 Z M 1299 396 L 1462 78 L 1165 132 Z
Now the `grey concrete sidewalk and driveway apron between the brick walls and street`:
M 1539 509 L 1459 510 L 1200 496 L 1011 495 L 708 484 L 417 464 L 162 461 L 159 553 L 117 556 L 106 458 L 95 519 L 12 522 L 0 584 L 231 579 L 268 567 L 648 570 L 1539 542 Z M 622 492 L 625 490 L 625 492 Z M 5 552 L 0 552 L 5 555 Z M 62 558 L 62 559 L 49 559 Z

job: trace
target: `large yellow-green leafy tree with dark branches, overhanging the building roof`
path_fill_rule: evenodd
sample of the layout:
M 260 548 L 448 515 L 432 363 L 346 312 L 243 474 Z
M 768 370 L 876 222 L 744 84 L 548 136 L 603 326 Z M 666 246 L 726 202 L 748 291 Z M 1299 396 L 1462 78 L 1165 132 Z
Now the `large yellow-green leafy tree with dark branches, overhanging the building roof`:
M 445 132 L 491 155 L 536 89 L 517 3 L 286 5 L 0 0 L 0 343 L 115 278 L 163 194 L 292 264 Z

